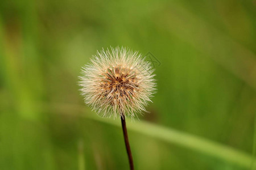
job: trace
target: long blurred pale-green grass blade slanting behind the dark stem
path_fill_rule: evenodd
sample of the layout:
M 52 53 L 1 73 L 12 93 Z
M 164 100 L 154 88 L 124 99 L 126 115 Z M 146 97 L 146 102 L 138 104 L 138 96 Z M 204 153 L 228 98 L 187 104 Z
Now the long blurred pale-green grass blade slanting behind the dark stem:
M 50 106 L 51 109 L 56 109 L 58 113 L 62 114 L 73 114 L 73 113 L 84 113 L 85 108 L 80 105 L 72 104 L 53 104 Z M 90 114 L 89 111 L 86 114 L 73 114 L 74 116 L 82 116 L 84 118 L 120 127 L 118 120 L 110 118 L 102 118 L 96 114 Z M 127 129 L 132 130 L 136 133 L 148 135 L 155 139 L 165 141 L 170 144 L 174 144 L 180 147 L 188 148 L 202 154 L 213 156 L 214 158 L 221 159 L 225 162 L 240 165 L 241 167 L 250 168 L 252 158 L 249 154 L 243 151 L 237 150 L 221 143 L 210 141 L 208 139 L 198 137 L 196 135 L 184 133 L 179 130 L 171 128 L 165 128 L 156 124 L 151 124 L 146 121 L 127 121 Z

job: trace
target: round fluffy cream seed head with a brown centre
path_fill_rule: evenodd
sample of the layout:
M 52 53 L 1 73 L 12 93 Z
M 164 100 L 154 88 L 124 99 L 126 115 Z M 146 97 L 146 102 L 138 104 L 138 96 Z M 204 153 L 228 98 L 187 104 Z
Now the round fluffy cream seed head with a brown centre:
M 150 62 L 125 48 L 102 49 L 82 68 L 79 82 L 85 103 L 104 117 L 134 117 L 155 91 Z

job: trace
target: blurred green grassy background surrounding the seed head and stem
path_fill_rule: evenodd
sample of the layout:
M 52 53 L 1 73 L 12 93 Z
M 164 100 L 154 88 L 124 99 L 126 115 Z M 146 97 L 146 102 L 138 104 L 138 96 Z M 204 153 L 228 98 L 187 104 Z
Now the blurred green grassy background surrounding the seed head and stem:
M 151 113 L 127 120 L 136 169 L 255 169 L 256 2 L 240 0 L 2 0 L 0 169 L 129 169 L 119 120 L 77 86 L 110 46 L 155 65 Z

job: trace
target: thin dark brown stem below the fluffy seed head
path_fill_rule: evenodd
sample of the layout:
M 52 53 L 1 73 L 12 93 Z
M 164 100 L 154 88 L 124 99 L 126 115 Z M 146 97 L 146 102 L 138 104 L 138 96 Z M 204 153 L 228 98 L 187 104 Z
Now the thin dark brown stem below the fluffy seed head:
M 123 115 L 121 116 L 121 122 L 122 122 L 122 129 L 123 129 L 123 137 L 125 138 L 125 147 L 126 147 L 127 155 L 129 158 L 130 169 L 134 170 L 133 156 L 131 155 L 131 148 L 130 148 L 130 144 L 129 144 L 127 129 L 126 129 L 125 116 L 123 116 Z

